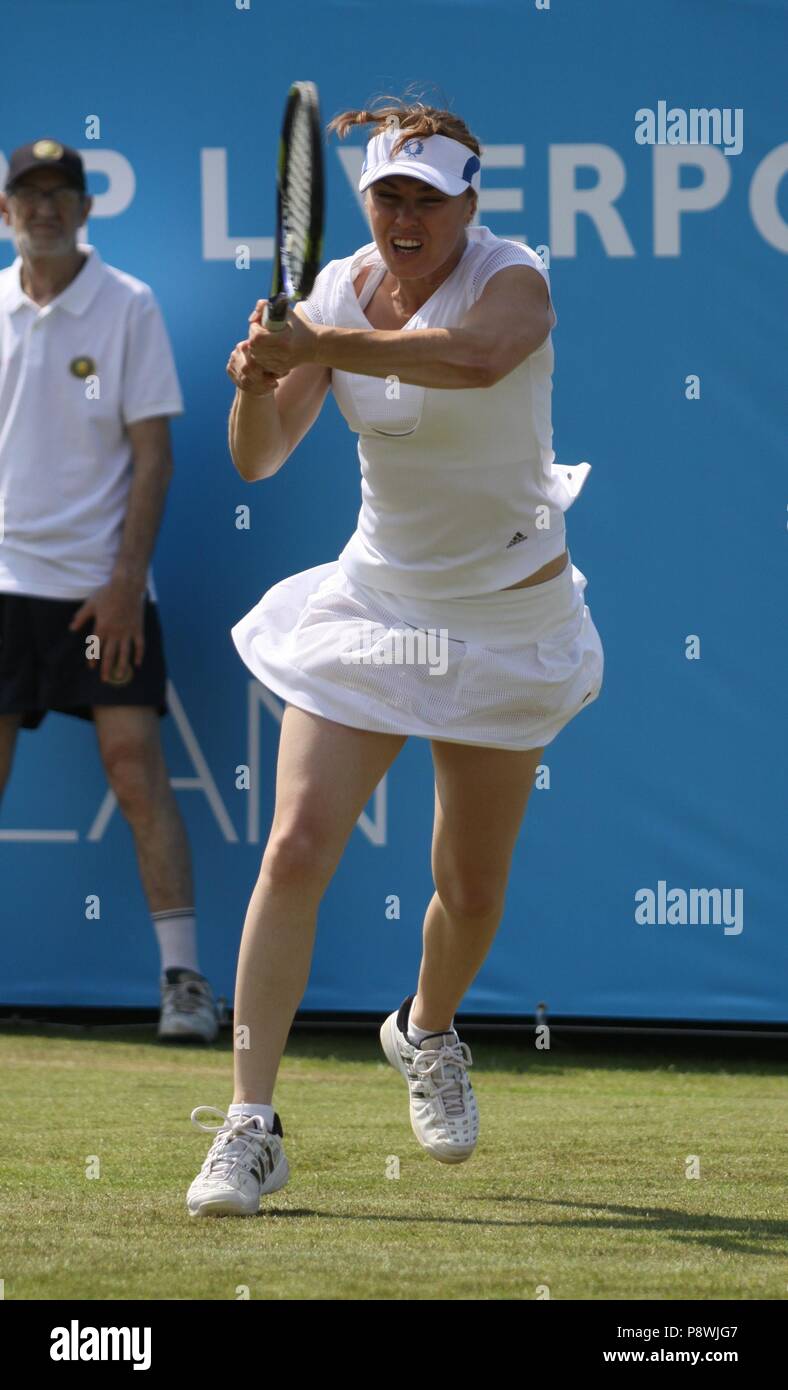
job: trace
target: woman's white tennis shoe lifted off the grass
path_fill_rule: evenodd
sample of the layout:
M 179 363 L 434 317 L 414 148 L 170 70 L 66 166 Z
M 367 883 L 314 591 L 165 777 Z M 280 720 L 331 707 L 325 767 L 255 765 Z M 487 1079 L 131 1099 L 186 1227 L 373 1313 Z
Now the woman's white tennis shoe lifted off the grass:
M 431 1033 L 414 1045 L 406 1033 L 414 998 L 411 994 L 404 999 L 384 1023 L 384 1052 L 407 1081 L 410 1125 L 421 1147 L 441 1163 L 463 1163 L 479 1134 L 477 1098 L 467 1074 L 471 1049 L 460 1042 L 456 1029 Z

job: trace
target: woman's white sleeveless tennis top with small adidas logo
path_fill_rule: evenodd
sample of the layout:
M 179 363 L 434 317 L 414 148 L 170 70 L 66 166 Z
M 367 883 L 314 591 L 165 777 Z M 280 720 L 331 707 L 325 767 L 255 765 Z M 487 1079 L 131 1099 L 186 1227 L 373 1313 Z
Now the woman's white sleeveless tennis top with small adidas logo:
M 506 265 L 542 259 L 470 227 L 467 246 L 403 332 L 453 328 Z M 353 286 L 372 265 L 361 299 Z M 303 307 L 317 324 L 366 328 L 386 267 L 375 242 L 329 261 Z M 556 320 L 557 322 L 557 320 Z M 360 584 L 418 598 L 464 598 L 528 578 L 566 548 L 563 513 L 591 467 L 557 467 L 552 449 L 552 334 L 495 386 L 441 389 L 332 370 L 339 410 L 359 435 L 361 510 L 339 555 Z

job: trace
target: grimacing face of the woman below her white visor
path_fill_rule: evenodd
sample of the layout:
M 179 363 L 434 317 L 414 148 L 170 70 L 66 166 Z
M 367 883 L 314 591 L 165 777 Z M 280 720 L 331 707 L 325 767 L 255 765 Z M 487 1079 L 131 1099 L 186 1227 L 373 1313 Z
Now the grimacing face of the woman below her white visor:
M 436 271 L 466 243 L 475 200 L 466 193 L 449 197 L 418 178 L 402 174 L 370 186 L 367 208 L 378 250 L 393 275 L 421 278 Z M 400 240 L 417 242 L 413 249 Z

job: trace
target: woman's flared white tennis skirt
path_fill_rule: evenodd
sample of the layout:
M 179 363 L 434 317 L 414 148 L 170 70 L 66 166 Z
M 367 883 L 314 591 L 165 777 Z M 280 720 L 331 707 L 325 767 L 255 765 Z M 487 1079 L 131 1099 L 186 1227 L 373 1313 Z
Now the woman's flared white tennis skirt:
M 257 680 L 313 714 L 524 751 L 602 688 L 586 582 L 570 555 L 545 584 L 422 599 L 359 584 L 331 560 L 274 584 L 231 632 Z

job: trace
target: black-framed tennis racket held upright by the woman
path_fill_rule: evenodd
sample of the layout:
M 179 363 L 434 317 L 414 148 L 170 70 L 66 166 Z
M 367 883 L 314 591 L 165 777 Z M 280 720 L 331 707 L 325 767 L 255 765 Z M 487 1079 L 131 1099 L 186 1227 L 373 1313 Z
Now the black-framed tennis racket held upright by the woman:
M 288 92 L 277 161 L 277 246 L 263 324 L 285 327 L 288 309 L 311 295 L 322 256 L 324 172 L 314 82 Z

